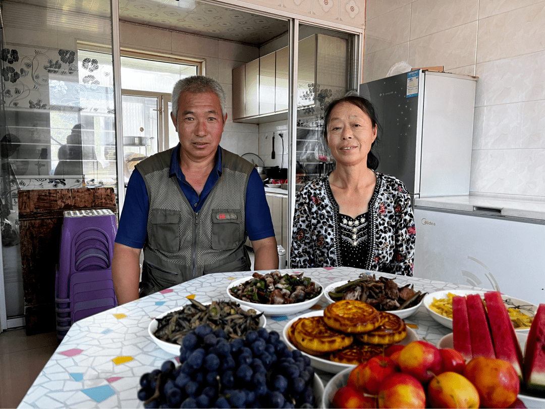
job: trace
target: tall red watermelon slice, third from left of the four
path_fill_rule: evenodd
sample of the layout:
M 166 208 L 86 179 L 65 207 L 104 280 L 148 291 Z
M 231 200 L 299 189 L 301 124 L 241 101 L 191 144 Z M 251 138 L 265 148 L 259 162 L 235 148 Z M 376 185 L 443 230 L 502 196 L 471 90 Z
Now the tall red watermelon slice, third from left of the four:
M 489 291 L 485 293 L 485 302 L 496 358 L 513 365 L 520 382 L 524 382 L 522 351 L 500 292 Z

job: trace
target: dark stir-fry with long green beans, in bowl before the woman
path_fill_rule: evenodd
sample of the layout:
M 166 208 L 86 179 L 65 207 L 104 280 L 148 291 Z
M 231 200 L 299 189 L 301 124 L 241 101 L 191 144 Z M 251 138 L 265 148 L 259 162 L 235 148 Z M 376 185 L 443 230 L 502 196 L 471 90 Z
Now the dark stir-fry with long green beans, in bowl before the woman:
M 328 295 L 334 301 L 356 299 L 379 311 L 395 311 L 418 305 L 427 294 L 414 291 L 409 284 L 399 288 L 394 280 L 386 277 L 377 279 L 374 274 L 361 274 L 359 279 L 348 281 Z

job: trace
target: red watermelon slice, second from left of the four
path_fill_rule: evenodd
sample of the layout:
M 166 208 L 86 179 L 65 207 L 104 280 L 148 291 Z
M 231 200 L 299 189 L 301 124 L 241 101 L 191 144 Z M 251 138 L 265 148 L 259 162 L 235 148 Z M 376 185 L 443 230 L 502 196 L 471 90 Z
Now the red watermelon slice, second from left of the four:
M 479 294 L 469 294 L 468 299 L 469 335 L 473 357 L 495 358 L 492 337 L 485 314 L 485 306 Z

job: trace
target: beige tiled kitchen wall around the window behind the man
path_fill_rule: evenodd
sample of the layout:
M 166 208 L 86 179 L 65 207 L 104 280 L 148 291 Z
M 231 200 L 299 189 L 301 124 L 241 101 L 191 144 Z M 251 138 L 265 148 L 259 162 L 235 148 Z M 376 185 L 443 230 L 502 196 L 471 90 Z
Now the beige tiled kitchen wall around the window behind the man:
M 233 68 L 258 58 L 257 47 L 124 22 L 119 23 L 119 31 L 122 47 L 205 58 L 206 75 L 219 81 L 227 93 L 227 123 L 220 145 L 238 154 L 258 153 L 258 125 L 234 123 L 231 119 Z

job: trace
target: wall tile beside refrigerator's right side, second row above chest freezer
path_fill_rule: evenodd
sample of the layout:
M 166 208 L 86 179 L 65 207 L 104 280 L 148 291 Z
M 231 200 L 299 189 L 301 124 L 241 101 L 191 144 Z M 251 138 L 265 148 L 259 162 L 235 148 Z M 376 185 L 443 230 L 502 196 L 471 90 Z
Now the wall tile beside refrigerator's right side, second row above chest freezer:
M 476 107 L 473 149 L 519 148 L 522 111 L 522 103 Z

